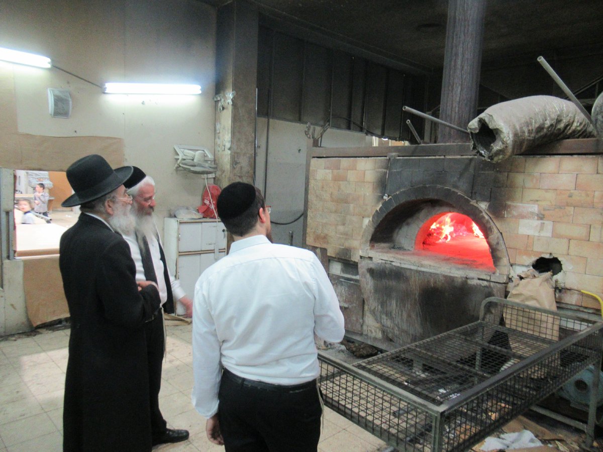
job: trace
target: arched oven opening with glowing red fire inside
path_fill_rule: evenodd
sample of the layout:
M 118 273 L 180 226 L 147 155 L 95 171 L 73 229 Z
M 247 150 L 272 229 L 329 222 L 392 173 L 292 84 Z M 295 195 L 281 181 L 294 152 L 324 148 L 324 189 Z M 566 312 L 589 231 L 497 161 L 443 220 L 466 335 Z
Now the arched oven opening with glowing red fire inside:
M 466 228 L 475 224 L 483 235 L 483 245 L 479 240 L 467 237 L 464 243 L 456 244 L 456 254 L 467 246 L 475 249 L 460 251 L 461 259 L 454 259 L 454 253 L 450 251 L 452 246 L 435 243 L 429 237 L 434 222 L 446 218 L 452 218 Z M 453 240 L 450 242 L 454 243 Z M 507 280 L 511 272 L 504 237 L 490 215 L 463 193 L 439 185 L 399 190 L 373 213 L 362 234 L 360 258 L 376 257 L 394 261 L 421 260 L 421 265 L 429 265 L 427 262 L 434 258 L 435 266 L 466 267 L 497 275 L 500 282 Z

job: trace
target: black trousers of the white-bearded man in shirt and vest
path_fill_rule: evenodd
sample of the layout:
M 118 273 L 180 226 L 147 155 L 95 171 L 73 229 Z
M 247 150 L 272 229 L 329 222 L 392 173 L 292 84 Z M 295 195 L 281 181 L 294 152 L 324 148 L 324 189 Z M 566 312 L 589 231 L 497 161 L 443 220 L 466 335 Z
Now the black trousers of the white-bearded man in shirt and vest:
M 159 410 L 159 391 L 161 389 L 161 368 L 163 365 L 163 312 L 145 324 L 147 336 L 147 356 L 149 369 L 149 393 L 151 406 L 151 432 L 153 438 L 163 435 L 167 423 Z

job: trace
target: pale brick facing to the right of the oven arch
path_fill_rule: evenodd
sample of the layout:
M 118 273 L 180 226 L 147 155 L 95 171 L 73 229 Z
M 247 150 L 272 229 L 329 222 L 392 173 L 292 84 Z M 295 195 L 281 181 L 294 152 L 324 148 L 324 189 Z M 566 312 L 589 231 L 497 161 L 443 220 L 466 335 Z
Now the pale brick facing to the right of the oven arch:
M 505 199 L 487 210 L 504 236 L 517 271 L 538 257 L 557 257 L 556 279 L 562 301 L 599 309 L 603 294 L 603 157 L 542 155 L 511 159 L 504 184 L 491 199 Z M 499 172 L 504 174 L 505 172 Z M 559 300 L 561 301 L 561 300 Z

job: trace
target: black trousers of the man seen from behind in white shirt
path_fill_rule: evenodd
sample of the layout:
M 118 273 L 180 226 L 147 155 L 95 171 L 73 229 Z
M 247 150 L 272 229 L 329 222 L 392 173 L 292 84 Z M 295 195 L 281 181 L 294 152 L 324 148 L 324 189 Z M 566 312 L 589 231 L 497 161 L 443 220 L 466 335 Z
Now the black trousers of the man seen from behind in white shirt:
M 316 382 L 268 385 L 224 369 L 218 418 L 226 452 L 316 452 L 322 407 Z

